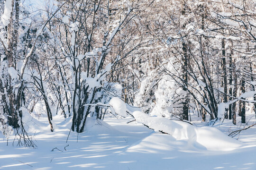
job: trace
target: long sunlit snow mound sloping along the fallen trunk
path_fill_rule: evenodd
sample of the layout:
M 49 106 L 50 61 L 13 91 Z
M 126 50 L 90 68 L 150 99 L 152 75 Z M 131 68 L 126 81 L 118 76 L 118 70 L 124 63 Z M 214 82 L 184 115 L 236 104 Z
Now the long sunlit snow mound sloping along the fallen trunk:
M 155 131 L 165 132 L 174 137 L 175 141 L 185 142 L 191 148 L 208 151 L 232 151 L 243 145 L 214 127 L 194 127 L 182 121 L 151 117 L 141 111 L 133 112 L 133 116 L 138 122 Z M 145 140 L 147 141 L 147 139 Z

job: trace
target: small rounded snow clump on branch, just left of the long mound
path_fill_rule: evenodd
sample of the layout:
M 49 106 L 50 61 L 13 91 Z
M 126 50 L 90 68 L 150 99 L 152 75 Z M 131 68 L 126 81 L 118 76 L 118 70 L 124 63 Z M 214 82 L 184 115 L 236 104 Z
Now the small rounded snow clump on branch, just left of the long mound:
M 110 106 L 114 109 L 112 111 L 115 111 L 115 113 L 125 117 L 127 108 L 126 108 L 126 104 L 124 101 L 122 101 L 121 99 L 119 99 L 118 97 L 113 97 L 112 99 L 110 99 L 109 102 Z

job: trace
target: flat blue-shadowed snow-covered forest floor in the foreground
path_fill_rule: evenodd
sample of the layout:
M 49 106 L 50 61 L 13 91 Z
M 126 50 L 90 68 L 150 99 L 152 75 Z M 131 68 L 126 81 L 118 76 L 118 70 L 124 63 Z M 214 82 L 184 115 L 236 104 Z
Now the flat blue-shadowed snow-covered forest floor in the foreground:
M 248 124 L 254 123 L 254 115 L 249 116 Z M 54 132 L 47 127 L 46 118 L 26 119 L 31 119 L 30 133 L 40 129 L 34 137 L 37 148 L 12 146 L 11 139 L 7 146 L 7 141 L 0 136 L 1 170 L 256 170 L 256 127 L 232 139 L 219 132 L 229 134 L 238 128 L 230 120 L 217 122 L 214 126 L 219 130 L 207 129 L 212 134 L 205 133 L 208 138 L 200 139 L 205 143 L 195 144 L 191 142 L 192 137 L 188 137 L 190 134 L 177 138 L 181 136 L 177 134 L 184 133 L 184 128 L 177 134 L 167 135 L 148 129 L 139 121 L 127 124 L 132 118 L 110 116 L 104 121 L 88 118 L 86 131 L 78 135 L 71 132 L 66 142 L 71 119 L 55 116 Z M 198 138 L 198 129 L 204 124 L 195 122 L 195 125 Z M 187 126 L 191 129 L 191 125 Z M 207 145 L 211 147 L 205 147 Z

